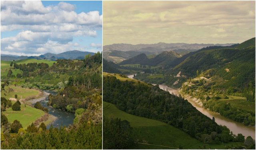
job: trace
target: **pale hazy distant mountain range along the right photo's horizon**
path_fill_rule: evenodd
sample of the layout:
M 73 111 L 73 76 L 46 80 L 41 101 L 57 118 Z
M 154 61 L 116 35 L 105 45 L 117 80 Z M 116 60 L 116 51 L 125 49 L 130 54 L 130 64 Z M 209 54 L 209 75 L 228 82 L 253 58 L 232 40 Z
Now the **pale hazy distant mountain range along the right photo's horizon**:
M 105 55 L 103 56 L 108 61 L 116 62 L 116 60 L 124 60 L 132 58 L 138 54 L 160 54 L 163 51 L 173 50 L 178 54 L 187 54 L 208 46 L 230 46 L 233 44 L 186 44 L 186 43 L 164 43 L 156 44 L 112 44 L 103 46 Z

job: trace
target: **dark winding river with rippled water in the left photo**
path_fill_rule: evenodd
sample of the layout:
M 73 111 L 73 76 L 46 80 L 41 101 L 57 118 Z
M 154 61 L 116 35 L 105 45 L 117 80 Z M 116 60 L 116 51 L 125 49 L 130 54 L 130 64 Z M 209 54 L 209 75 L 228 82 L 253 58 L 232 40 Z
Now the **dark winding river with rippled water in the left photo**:
M 40 102 L 43 107 L 46 107 L 49 110 L 48 114 L 51 114 L 57 118 L 51 123 L 54 128 L 59 127 L 61 125 L 62 126 L 72 125 L 73 120 L 75 118 L 74 113 L 54 109 L 51 106 L 48 106 L 47 102 L 48 102 L 49 94 L 57 94 L 57 93 L 54 91 L 44 91 L 44 96 L 42 98 L 33 99 L 33 100 L 30 100 L 30 102 L 32 104 L 35 104 L 36 102 Z M 48 124 L 46 128 L 50 128 L 51 124 Z

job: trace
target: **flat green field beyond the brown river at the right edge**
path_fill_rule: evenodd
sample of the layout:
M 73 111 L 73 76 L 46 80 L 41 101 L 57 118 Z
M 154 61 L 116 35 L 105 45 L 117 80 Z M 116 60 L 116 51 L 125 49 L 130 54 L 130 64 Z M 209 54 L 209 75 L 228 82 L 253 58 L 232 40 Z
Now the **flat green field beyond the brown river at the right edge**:
M 228 96 L 230 99 L 221 99 L 221 101 L 230 103 L 232 107 L 240 108 L 242 110 L 255 113 L 255 102 L 249 102 L 246 98 L 238 96 Z

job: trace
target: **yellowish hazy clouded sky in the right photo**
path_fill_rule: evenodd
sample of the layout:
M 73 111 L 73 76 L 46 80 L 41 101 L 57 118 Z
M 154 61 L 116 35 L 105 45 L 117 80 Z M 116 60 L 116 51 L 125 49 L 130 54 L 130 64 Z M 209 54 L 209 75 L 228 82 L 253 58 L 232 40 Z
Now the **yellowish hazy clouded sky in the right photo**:
M 255 37 L 255 1 L 104 1 L 103 45 L 241 43 Z

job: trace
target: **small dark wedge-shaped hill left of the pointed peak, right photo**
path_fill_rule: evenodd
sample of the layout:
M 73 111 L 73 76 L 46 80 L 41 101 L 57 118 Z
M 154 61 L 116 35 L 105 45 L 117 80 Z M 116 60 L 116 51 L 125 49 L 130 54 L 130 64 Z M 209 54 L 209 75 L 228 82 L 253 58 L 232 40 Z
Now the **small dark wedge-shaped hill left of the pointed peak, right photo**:
M 124 60 L 122 62 L 120 62 L 119 64 L 141 64 L 141 65 L 146 65 L 148 64 L 148 57 L 146 56 L 146 54 L 142 53 L 139 54 L 133 58 L 130 58 L 128 60 Z

